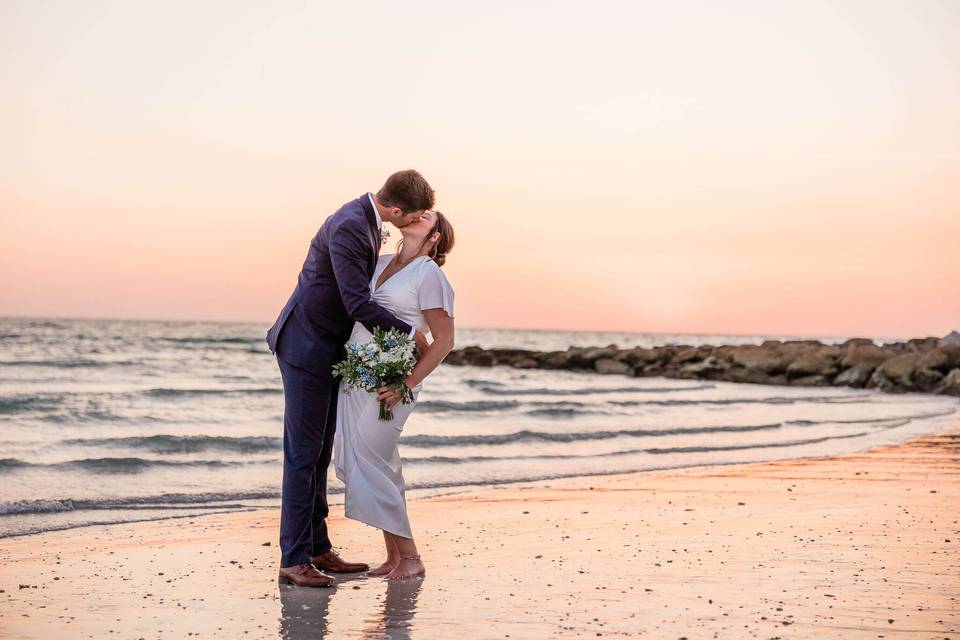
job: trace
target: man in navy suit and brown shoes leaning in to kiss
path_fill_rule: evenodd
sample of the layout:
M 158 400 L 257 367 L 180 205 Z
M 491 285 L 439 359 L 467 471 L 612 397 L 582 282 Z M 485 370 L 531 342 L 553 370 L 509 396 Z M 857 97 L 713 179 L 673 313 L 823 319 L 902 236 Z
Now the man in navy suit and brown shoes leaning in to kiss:
M 310 242 L 297 286 L 267 332 L 283 378 L 283 492 L 280 582 L 326 587 L 335 573 L 366 571 L 346 562 L 327 535 L 327 467 L 333 453 L 338 382 L 333 365 L 353 323 L 397 328 L 424 349 L 426 337 L 371 299 L 370 279 L 380 252 L 383 221 L 416 222 L 433 207 L 433 189 L 418 172 L 398 171 L 376 193 L 351 200 Z M 423 251 L 429 252 L 433 243 Z

